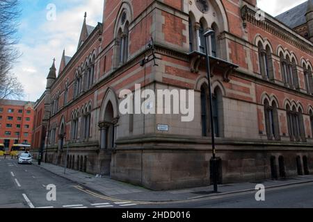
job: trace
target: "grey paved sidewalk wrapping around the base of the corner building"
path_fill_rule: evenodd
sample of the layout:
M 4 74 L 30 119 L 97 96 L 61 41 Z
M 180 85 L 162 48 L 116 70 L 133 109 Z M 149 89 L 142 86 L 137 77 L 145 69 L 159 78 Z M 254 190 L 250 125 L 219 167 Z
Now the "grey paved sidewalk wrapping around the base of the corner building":
M 37 162 L 35 165 L 38 166 Z M 83 187 L 87 187 L 93 191 L 110 196 L 113 198 L 120 198 L 123 200 L 137 200 L 137 201 L 173 201 L 173 200 L 187 200 L 203 198 L 206 196 L 216 196 L 225 195 L 233 193 L 241 193 L 244 191 L 255 190 L 255 185 L 257 183 L 245 182 L 239 184 L 229 184 L 229 185 L 219 185 L 218 194 L 213 194 L 211 191 L 213 187 L 197 187 L 192 189 L 179 189 L 170 191 L 151 191 L 143 187 L 136 187 L 133 185 L 126 184 L 124 182 L 119 182 L 116 180 L 111 180 L 110 178 L 97 178 L 94 175 L 88 173 L 82 173 L 79 171 L 73 171 L 71 169 L 66 169 L 66 174 L 64 174 L 64 168 L 58 167 L 53 164 L 41 164 L 43 169 L 50 171 L 58 176 L 67 178 L 72 182 L 76 182 Z M 300 184 L 305 182 L 313 182 L 313 176 L 298 176 L 294 178 L 288 178 L 286 180 L 268 180 L 262 183 L 265 187 L 283 187 L 286 185 Z

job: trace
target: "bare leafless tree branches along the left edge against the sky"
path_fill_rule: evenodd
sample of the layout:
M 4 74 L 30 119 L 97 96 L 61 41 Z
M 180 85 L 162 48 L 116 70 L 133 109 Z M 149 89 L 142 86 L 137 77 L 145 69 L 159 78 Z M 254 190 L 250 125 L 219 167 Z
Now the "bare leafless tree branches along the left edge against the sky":
M 20 99 L 23 87 L 11 73 L 19 58 L 17 44 L 19 0 L 0 0 L 0 99 Z

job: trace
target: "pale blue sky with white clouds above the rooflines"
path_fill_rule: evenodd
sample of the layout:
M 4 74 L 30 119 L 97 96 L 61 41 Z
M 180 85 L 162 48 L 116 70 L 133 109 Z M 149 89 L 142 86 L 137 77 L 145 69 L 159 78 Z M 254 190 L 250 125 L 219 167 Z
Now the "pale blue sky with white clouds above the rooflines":
M 305 1 L 258 0 L 258 7 L 275 16 Z M 53 59 L 56 58 L 58 69 L 63 49 L 67 56 L 74 55 L 84 13 L 87 12 L 87 24 L 96 26 L 97 22 L 102 22 L 103 2 L 104 0 L 21 1 L 22 17 L 17 49 L 22 56 L 13 72 L 24 85 L 24 100 L 40 99 L 45 92 L 46 78 Z

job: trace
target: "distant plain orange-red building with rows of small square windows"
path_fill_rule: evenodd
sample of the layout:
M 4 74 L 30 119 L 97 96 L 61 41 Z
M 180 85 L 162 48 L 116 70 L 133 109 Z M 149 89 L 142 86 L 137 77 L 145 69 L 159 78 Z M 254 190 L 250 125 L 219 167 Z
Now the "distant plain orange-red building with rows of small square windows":
M 0 101 L 0 144 L 7 150 L 13 144 L 31 144 L 33 105 L 26 101 Z

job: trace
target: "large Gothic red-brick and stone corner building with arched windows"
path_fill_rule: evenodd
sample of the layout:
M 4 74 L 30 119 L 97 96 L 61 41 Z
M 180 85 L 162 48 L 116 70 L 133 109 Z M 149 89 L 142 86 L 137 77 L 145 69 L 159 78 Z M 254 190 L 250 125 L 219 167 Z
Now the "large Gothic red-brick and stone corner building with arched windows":
M 202 36 L 211 28 L 220 182 L 312 173 L 313 2 L 277 18 L 260 16 L 255 5 L 104 1 L 102 23 L 88 26 L 85 17 L 77 52 L 72 58 L 63 53 L 58 76 L 55 65 L 50 69 L 47 90 L 35 106 L 35 150 L 48 143 L 47 162 L 64 166 L 67 160 L 71 169 L 150 189 L 209 185 Z M 195 118 L 121 114 L 119 94 L 134 91 L 135 84 L 154 92 L 194 89 Z

